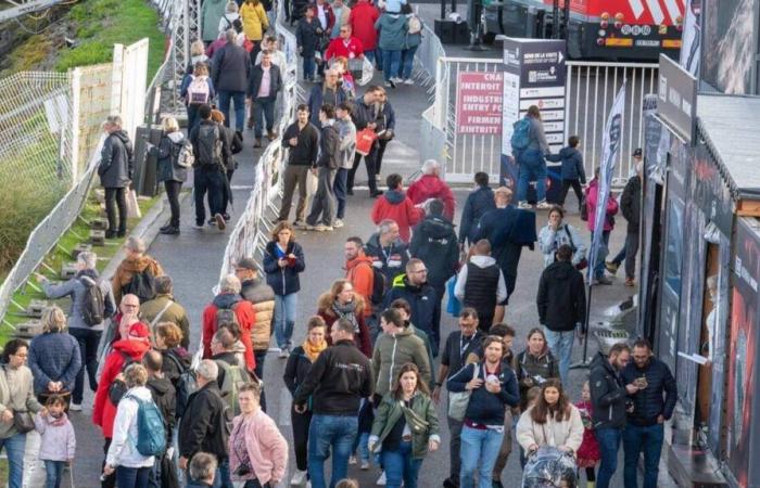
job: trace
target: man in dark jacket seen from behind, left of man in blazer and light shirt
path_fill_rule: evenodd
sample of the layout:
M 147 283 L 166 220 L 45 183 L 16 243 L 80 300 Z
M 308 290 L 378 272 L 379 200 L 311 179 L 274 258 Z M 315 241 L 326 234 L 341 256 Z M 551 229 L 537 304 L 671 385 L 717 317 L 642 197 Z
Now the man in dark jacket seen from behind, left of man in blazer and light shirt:
M 235 103 L 235 130 L 241 134 L 245 126 L 245 89 L 251 72 L 248 52 L 236 43 L 238 33 L 229 29 L 225 34 L 227 43 L 214 53 L 211 77 L 219 94 L 219 110 L 225 114 L 225 126 L 230 126 L 229 104 Z

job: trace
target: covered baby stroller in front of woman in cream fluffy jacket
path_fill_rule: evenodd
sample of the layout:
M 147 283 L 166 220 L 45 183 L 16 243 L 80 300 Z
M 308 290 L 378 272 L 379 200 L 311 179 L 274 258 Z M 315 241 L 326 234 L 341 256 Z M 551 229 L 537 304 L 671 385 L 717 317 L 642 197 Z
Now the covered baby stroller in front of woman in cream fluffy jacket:
M 550 446 L 540 447 L 528 458 L 522 488 L 575 488 L 575 460 Z

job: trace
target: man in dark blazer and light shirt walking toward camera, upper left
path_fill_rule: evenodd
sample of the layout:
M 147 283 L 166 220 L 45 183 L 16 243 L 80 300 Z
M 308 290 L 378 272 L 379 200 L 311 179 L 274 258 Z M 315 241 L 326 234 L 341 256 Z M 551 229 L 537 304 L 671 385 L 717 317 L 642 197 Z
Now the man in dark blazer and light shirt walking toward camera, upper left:
M 267 139 L 274 140 L 277 134 L 275 127 L 275 104 L 277 93 L 282 89 L 280 68 L 271 63 L 271 54 L 262 53 L 262 62 L 251 70 L 248 85 L 248 103 L 253 103 L 251 118 L 254 121 L 254 147 L 262 146 L 264 117 L 266 117 Z

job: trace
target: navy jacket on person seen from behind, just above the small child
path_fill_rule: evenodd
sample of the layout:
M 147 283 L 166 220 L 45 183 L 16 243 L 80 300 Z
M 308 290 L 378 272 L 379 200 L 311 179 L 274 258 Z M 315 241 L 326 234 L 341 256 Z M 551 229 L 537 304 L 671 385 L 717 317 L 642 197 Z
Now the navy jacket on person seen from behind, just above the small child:
M 29 344 L 28 364 L 36 395 L 46 393 L 50 382 L 61 382 L 66 391 L 72 391 L 81 368 L 79 343 L 65 332 L 38 335 Z

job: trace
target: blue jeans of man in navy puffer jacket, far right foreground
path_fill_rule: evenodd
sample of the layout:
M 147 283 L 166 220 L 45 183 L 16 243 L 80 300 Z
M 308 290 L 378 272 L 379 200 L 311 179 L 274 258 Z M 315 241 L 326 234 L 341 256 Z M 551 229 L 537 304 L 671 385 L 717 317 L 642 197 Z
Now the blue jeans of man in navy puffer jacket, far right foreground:
M 623 481 L 625 488 L 637 487 L 638 455 L 642 452 L 644 452 L 644 488 L 657 487 L 663 439 L 664 428 L 662 424 L 645 427 L 632 424 L 625 426 L 623 431 L 623 451 L 625 451 Z

